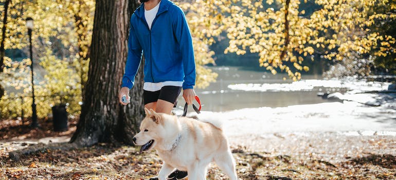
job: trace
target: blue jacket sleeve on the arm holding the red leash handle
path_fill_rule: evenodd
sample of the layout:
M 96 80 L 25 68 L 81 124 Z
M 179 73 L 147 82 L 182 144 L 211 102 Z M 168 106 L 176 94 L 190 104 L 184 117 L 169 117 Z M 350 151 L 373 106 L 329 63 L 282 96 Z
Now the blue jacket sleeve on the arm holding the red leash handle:
M 180 8 L 175 8 L 172 13 L 172 28 L 182 53 L 184 67 L 183 89 L 193 88 L 195 85 L 194 50 L 192 48 L 192 38 L 186 17 Z

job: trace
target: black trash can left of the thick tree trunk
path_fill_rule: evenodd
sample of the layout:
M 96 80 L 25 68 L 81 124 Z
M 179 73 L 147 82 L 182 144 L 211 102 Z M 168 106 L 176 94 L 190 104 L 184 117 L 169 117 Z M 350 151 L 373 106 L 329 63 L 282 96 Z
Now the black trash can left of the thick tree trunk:
M 52 107 L 53 131 L 67 131 L 66 105 L 59 104 Z

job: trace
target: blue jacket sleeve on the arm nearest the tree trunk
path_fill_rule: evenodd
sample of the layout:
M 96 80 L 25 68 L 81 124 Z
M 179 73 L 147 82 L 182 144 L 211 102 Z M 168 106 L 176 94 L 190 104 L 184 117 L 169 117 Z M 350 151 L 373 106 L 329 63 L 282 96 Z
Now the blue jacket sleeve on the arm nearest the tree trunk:
M 125 65 L 125 73 L 122 77 L 121 87 L 128 87 L 129 89 L 133 87 L 135 76 L 140 66 L 141 55 L 142 49 L 138 39 L 136 38 L 133 26 L 131 25 L 128 39 L 128 58 L 127 64 Z

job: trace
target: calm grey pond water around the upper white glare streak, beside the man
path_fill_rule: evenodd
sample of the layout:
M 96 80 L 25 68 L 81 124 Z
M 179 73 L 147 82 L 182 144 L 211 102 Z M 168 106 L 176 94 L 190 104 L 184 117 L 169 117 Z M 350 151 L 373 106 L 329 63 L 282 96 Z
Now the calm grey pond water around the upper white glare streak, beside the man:
M 210 67 L 219 74 L 217 82 L 211 83 L 205 89 L 195 89 L 200 97 L 203 111 L 230 111 L 250 107 L 283 107 L 297 104 L 313 104 L 329 102 L 316 96 L 319 89 L 294 92 L 256 92 L 231 90 L 227 86 L 239 83 L 291 83 L 292 80 L 282 80 L 287 75 L 273 75 L 263 71 L 243 70 L 238 67 Z M 303 79 L 321 79 L 321 75 L 303 75 Z M 326 90 L 326 89 L 323 89 Z M 184 104 L 179 96 L 178 105 Z

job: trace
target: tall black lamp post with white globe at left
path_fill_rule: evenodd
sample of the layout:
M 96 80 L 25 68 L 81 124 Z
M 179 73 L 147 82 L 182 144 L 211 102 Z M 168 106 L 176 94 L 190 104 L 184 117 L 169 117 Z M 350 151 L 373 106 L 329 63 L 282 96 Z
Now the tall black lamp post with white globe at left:
M 35 100 L 34 100 L 34 84 L 33 84 L 33 50 L 32 50 L 32 45 L 31 45 L 31 33 L 32 33 L 32 29 L 33 29 L 33 19 L 31 17 L 27 17 L 26 18 L 26 27 L 27 27 L 27 32 L 29 35 L 29 51 L 30 51 L 30 68 L 31 68 L 31 86 L 32 86 L 32 123 L 30 124 L 30 126 L 32 128 L 37 128 L 39 127 L 39 123 L 37 123 L 37 111 L 36 111 L 36 104 L 35 104 Z

